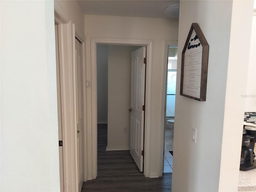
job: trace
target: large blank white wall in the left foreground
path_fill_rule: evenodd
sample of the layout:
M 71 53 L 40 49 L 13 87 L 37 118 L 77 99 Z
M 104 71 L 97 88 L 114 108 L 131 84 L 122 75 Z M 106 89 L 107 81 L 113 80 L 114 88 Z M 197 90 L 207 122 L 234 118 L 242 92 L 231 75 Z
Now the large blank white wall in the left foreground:
M 52 1 L 1 1 L 1 191 L 60 191 Z

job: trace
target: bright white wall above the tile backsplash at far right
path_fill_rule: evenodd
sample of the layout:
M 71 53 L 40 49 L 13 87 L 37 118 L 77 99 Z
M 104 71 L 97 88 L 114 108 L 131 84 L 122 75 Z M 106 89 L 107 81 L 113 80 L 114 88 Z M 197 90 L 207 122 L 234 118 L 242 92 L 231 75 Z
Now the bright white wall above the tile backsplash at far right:
M 256 2 L 256 1 L 255 1 Z M 252 36 L 250 44 L 250 58 L 246 83 L 245 112 L 256 111 L 256 16 L 252 19 Z

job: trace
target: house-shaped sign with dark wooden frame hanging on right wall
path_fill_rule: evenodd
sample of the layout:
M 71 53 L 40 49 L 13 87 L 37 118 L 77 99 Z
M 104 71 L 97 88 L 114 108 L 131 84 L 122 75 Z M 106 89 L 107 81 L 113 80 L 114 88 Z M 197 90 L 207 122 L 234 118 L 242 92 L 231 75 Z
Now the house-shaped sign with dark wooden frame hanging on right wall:
M 206 100 L 209 44 L 197 23 L 192 23 L 182 51 L 180 95 Z

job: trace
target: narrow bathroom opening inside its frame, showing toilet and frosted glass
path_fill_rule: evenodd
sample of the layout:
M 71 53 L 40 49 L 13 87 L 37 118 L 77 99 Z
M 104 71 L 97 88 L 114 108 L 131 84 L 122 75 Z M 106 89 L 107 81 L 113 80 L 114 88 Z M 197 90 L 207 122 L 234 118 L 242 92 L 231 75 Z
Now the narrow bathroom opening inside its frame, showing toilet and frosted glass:
M 166 62 L 165 117 L 164 117 L 164 168 L 163 173 L 172 173 L 174 114 L 177 77 L 178 46 L 168 46 Z

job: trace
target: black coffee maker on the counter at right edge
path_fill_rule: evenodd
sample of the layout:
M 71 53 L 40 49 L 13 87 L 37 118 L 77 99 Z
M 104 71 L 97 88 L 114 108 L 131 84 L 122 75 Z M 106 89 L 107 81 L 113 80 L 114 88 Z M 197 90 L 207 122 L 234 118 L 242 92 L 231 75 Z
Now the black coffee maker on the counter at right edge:
M 256 125 L 244 122 L 240 170 L 247 171 L 256 168 L 254 146 L 256 143 Z

